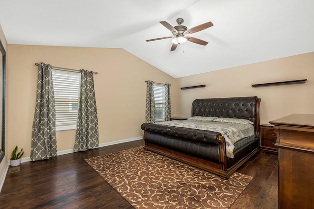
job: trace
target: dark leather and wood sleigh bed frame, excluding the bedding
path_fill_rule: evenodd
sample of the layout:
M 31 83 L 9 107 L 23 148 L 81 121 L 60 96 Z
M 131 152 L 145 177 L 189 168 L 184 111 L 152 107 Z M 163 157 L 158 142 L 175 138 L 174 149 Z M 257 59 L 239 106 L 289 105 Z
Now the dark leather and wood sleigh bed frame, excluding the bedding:
M 255 134 L 237 141 L 234 158 L 226 156 L 225 138 L 218 132 L 143 123 L 144 148 L 227 179 L 260 150 L 259 104 L 252 97 L 196 99 L 192 116 L 218 116 L 251 120 Z

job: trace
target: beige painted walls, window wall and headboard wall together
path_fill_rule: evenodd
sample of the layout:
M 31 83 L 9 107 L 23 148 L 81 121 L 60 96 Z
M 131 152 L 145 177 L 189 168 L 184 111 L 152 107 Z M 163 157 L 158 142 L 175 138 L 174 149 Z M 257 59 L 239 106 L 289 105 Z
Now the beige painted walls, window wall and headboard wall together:
M 261 122 L 293 113 L 314 114 L 314 52 L 232 69 L 174 79 L 123 49 L 8 45 L 7 149 L 18 144 L 30 154 L 34 116 L 36 62 L 98 71 L 95 93 L 100 143 L 142 137 L 145 120 L 145 80 L 171 83 L 172 116 L 191 114 L 196 98 L 257 95 Z M 251 84 L 308 79 L 306 84 L 252 88 Z M 180 90 L 180 87 L 207 85 Z M 139 131 L 135 131 L 138 127 Z M 105 135 L 107 131 L 107 135 Z M 75 131 L 57 132 L 58 151 L 72 149 Z

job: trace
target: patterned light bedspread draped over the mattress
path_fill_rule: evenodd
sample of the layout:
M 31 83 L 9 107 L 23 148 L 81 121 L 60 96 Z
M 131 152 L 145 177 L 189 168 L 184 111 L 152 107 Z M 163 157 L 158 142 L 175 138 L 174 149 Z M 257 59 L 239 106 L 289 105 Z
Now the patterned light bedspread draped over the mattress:
M 193 128 L 219 132 L 226 140 L 226 155 L 229 158 L 234 158 L 235 142 L 245 137 L 252 136 L 254 134 L 253 125 L 224 123 L 224 122 L 200 122 L 196 120 L 171 120 L 156 122 L 162 125 L 178 126 L 184 128 Z

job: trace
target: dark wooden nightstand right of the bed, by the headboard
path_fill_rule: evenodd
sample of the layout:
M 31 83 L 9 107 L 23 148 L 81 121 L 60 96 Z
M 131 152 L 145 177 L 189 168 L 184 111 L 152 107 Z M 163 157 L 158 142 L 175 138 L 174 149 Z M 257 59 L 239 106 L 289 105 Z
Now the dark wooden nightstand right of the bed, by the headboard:
M 278 154 L 278 147 L 275 146 L 277 136 L 274 126 L 270 124 L 261 124 L 261 150 Z

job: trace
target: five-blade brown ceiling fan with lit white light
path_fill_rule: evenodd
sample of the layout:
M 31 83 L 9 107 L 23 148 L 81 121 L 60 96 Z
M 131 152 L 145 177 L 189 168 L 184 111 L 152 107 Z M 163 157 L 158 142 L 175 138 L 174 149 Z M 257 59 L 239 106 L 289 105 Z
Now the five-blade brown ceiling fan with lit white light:
M 196 33 L 198 31 L 204 30 L 206 28 L 211 27 L 213 24 L 211 22 L 208 23 L 204 23 L 204 24 L 200 24 L 198 26 L 192 27 L 190 29 L 187 29 L 187 27 L 185 27 L 184 25 L 181 25 L 183 23 L 183 19 L 182 18 L 178 18 L 177 19 L 177 26 L 172 26 L 171 24 L 167 23 L 166 21 L 161 21 L 159 22 L 161 23 L 163 26 L 165 26 L 166 28 L 168 28 L 173 36 L 168 36 L 168 37 L 162 37 L 162 38 L 157 38 L 157 39 L 149 39 L 146 40 L 147 42 L 150 41 L 156 41 L 156 40 L 161 40 L 161 39 L 170 39 L 173 38 L 171 40 L 171 42 L 173 43 L 171 46 L 170 51 L 174 51 L 176 50 L 177 46 L 180 44 L 183 44 L 186 41 L 189 42 L 193 42 L 195 44 L 200 44 L 200 45 L 207 45 L 208 42 L 203 41 L 201 39 L 197 39 L 197 38 L 193 38 L 193 37 L 189 37 L 189 36 L 185 36 L 186 34 L 192 34 L 192 33 Z

